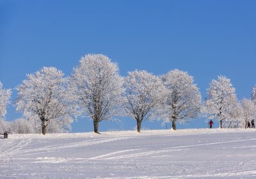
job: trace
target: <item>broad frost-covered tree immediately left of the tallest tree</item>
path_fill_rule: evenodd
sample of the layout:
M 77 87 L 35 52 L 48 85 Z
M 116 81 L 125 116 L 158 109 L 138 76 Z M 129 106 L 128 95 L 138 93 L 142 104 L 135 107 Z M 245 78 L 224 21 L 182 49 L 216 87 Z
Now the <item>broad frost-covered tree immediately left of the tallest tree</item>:
M 69 93 L 65 89 L 63 75 L 54 67 L 44 67 L 35 74 L 28 74 L 28 79 L 16 88 L 16 110 L 28 120 L 39 119 L 44 135 L 53 121 L 70 125 L 74 117 L 76 106 L 67 100 Z

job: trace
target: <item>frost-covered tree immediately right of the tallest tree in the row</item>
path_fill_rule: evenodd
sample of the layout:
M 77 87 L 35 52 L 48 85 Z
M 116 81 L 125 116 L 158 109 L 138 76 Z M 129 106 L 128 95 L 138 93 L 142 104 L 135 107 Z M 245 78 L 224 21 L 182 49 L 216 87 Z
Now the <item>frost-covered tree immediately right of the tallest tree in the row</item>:
M 129 72 L 125 77 L 124 102 L 125 113 L 137 121 L 137 129 L 140 132 L 141 122 L 152 120 L 163 103 L 166 89 L 159 77 L 145 70 Z

